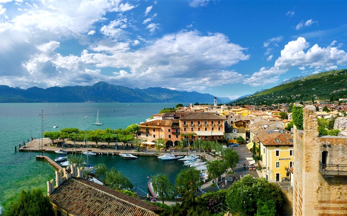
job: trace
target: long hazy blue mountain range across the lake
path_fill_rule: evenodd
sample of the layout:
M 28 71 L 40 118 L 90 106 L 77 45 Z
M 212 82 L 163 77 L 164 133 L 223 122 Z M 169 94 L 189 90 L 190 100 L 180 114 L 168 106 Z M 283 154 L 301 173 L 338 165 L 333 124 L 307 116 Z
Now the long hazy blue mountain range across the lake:
M 162 87 L 145 89 L 99 82 L 94 86 L 65 86 L 28 89 L 0 85 L 0 102 L 181 102 L 213 103 L 214 96 L 196 91 L 176 91 Z

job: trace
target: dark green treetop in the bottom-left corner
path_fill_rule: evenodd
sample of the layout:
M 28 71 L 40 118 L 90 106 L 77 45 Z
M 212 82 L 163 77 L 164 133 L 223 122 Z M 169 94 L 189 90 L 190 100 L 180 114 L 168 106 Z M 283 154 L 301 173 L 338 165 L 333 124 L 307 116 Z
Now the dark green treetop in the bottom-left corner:
M 40 188 L 23 190 L 18 200 L 12 202 L 5 216 L 54 216 L 53 205 Z

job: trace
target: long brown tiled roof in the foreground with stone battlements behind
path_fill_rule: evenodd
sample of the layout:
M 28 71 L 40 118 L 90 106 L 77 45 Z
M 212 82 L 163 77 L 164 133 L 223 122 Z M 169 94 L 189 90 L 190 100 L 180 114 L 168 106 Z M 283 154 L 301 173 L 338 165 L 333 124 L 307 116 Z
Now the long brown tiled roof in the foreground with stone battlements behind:
M 51 202 L 77 216 L 156 216 L 162 208 L 83 178 L 70 178 Z

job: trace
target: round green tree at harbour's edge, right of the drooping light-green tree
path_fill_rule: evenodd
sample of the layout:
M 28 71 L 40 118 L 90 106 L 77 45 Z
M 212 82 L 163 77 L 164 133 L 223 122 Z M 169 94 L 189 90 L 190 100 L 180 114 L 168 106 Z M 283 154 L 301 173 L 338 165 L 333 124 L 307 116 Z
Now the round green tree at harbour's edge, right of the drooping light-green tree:
M 190 190 L 197 190 L 200 185 L 200 171 L 194 168 L 181 170 L 175 180 L 176 191 L 183 196 Z

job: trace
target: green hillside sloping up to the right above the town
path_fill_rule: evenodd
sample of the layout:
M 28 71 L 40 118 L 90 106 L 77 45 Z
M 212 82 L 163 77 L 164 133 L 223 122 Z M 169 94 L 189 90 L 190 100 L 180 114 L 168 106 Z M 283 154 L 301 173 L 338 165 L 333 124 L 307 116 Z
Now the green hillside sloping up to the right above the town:
M 305 77 L 260 93 L 239 99 L 232 104 L 277 104 L 295 101 L 339 100 L 347 97 L 347 69 L 327 71 Z

